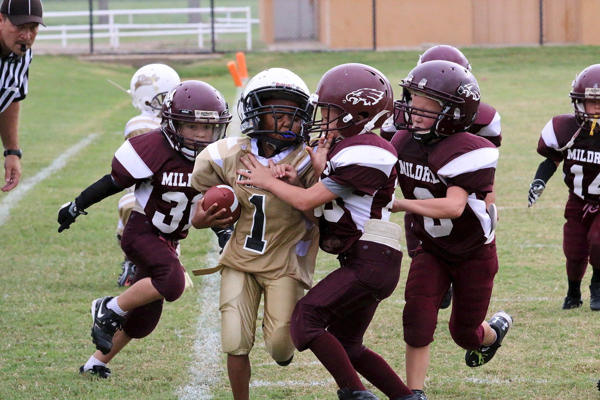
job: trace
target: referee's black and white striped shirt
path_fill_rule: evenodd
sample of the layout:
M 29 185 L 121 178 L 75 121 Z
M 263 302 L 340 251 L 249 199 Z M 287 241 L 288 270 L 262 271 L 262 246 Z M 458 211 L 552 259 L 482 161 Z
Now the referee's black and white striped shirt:
M 14 53 L 0 58 L 0 113 L 13 101 L 25 98 L 32 58 L 31 49 L 20 58 Z

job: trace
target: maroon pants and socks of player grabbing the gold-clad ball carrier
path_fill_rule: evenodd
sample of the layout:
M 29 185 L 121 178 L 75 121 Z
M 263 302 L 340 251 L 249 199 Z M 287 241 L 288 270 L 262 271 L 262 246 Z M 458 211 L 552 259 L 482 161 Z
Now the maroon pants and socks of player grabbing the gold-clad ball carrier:
M 296 348 L 310 348 L 340 388 L 364 390 L 358 372 L 390 398 L 410 394 L 379 354 L 362 338 L 379 302 L 400 278 L 402 252 L 358 240 L 340 257 L 340 268 L 296 303 L 290 333 Z

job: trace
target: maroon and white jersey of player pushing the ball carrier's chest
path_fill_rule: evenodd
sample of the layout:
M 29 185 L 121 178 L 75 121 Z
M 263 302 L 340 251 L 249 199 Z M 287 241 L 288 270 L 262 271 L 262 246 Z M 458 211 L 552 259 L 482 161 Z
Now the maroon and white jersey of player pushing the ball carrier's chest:
M 314 211 L 324 251 L 347 251 L 361 237 L 367 219 L 389 220 L 397 160 L 390 143 L 373 133 L 334 143 L 320 181 L 339 197 Z

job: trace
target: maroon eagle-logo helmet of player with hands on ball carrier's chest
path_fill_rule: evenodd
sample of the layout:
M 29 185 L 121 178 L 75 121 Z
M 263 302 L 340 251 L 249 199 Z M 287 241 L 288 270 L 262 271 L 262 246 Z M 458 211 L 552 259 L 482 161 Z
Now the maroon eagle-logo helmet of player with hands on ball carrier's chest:
M 357 63 L 327 71 L 309 101 L 315 108 L 307 132 L 338 130 L 344 138 L 380 128 L 394 108 L 388 79 L 375 68 Z

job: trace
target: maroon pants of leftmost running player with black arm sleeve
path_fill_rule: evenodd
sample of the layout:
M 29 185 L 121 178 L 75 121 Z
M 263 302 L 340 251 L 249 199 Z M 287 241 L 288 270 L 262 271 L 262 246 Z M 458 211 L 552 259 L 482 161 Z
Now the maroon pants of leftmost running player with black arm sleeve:
M 158 236 L 157 228 L 146 215 L 131 212 L 121 237 L 121 248 L 137 266 L 133 284 L 149 277 L 154 288 L 167 302 L 179 299 L 185 288 L 185 277 L 175 246 L 175 243 L 169 243 Z M 155 300 L 131 310 L 123 325 L 125 333 L 134 339 L 152 333 L 163 312 L 163 301 Z

